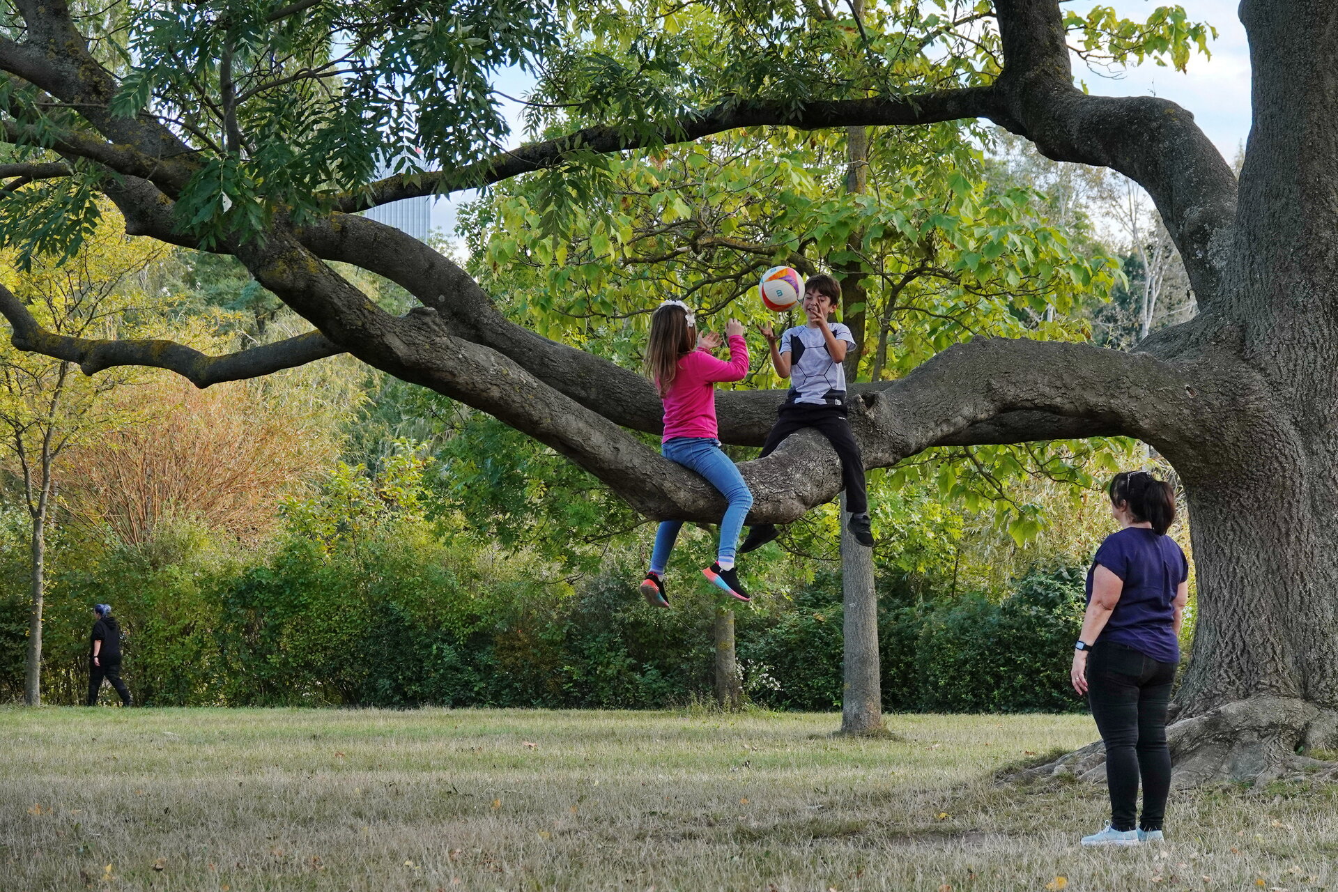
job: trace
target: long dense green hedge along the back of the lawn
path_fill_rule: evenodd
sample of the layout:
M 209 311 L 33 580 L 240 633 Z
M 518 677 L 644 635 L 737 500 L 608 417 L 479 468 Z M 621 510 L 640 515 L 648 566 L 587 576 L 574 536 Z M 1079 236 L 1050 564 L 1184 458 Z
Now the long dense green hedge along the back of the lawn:
M 480 558 L 421 522 L 330 548 L 292 536 L 260 559 L 189 528 L 150 547 L 64 550 L 52 564 L 45 698 L 78 702 L 88 607 L 111 603 L 127 635 L 124 674 L 147 705 L 549 706 L 653 709 L 708 699 L 705 586 L 652 610 L 634 568 L 574 590 L 543 568 Z M 17 562 L 11 562 L 17 567 Z M 60 571 L 59 567 L 78 567 Z M 913 600 L 882 579 L 888 710 L 1076 709 L 1066 666 L 1082 571 L 1033 571 L 994 603 Z M 21 695 L 23 591 L 0 596 L 0 691 Z M 749 697 L 775 709 L 838 709 L 839 576 L 793 599 L 736 608 Z

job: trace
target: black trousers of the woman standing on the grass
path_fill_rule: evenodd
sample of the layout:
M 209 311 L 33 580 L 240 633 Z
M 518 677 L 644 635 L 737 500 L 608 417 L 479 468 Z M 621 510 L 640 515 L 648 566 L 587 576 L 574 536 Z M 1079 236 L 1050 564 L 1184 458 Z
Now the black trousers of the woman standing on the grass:
M 1111 826 L 1132 830 L 1143 777 L 1139 826 L 1160 830 L 1171 792 L 1167 707 L 1175 663 L 1163 663 L 1115 642 L 1097 642 L 1088 657 L 1088 703 L 1105 744 Z

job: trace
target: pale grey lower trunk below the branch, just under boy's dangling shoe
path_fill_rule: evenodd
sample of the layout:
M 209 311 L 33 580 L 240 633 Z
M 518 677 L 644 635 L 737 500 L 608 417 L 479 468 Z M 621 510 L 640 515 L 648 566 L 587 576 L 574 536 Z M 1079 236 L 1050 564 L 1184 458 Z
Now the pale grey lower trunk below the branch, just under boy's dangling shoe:
M 883 725 L 883 687 L 878 658 L 878 592 L 874 588 L 874 550 L 855 542 L 847 530 L 842 493 L 842 603 L 844 663 L 840 703 L 842 734 L 879 734 Z

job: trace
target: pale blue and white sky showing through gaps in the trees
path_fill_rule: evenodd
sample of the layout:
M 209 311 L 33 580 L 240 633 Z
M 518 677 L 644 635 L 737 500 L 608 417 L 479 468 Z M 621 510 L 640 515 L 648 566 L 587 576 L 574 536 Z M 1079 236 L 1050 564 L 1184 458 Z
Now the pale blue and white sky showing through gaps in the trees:
M 1284 0 L 1279 0 L 1284 1 Z M 1085 13 L 1093 5 L 1113 5 L 1120 15 L 1144 21 L 1169 0 L 1069 0 L 1065 9 Z M 1250 134 L 1250 48 L 1246 32 L 1236 17 L 1238 0 L 1180 0 L 1192 21 L 1207 21 L 1218 29 L 1218 39 L 1210 43 L 1211 59 L 1195 55 L 1188 71 L 1147 63 L 1128 68 L 1123 76 L 1111 78 L 1104 71 L 1090 71 L 1081 59 L 1074 59 L 1073 75 L 1086 84 L 1089 92 L 1107 96 L 1153 95 L 1169 99 L 1193 114 L 1195 122 L 1218 146 L 1230 162 L 1244 146 Z M 503 76 L 498 88 L 519 96 L 527 88 L 523 75 Z M 519 120 L 519 107 L 507 103 L 512 122 Z M 512 144 L 519 144 L 520 127 L 516 123 Z M 432 209 L 432 226 L 447 233 L 455 227 L 455 207 L 466 198 L 455 195 L 439 199 Z

